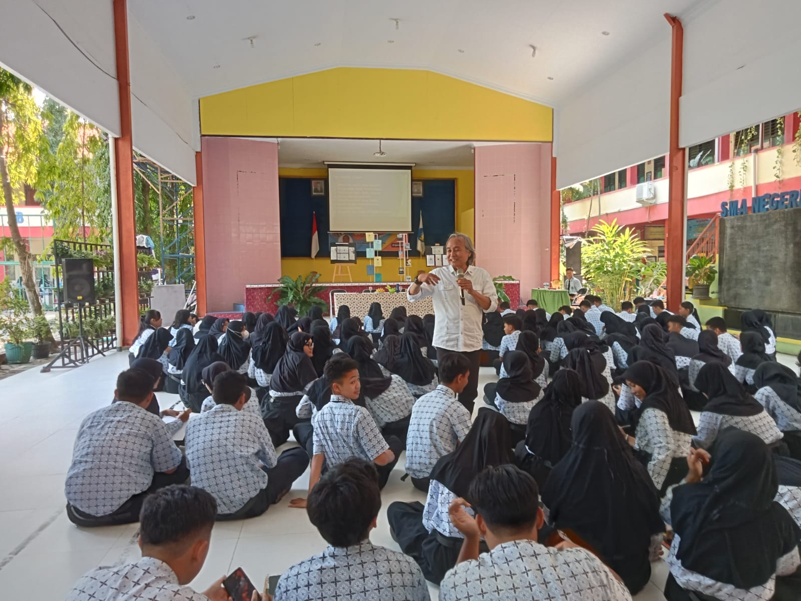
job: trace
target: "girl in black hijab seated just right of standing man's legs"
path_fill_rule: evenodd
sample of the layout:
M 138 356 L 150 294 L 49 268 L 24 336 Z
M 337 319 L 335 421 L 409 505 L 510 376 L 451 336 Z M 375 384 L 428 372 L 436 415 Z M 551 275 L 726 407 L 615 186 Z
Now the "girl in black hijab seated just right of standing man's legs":
M 529 413 L 537 401 L 542 398 L 542 387 L 534 381 L 529 357 L 522 351 L 509 351 L 503 357 L 506 373 L 495 386 L 495 396 L 491 399 L 511 426 L 511 444 L 525 438 L 525 426 L 529 421 Z

